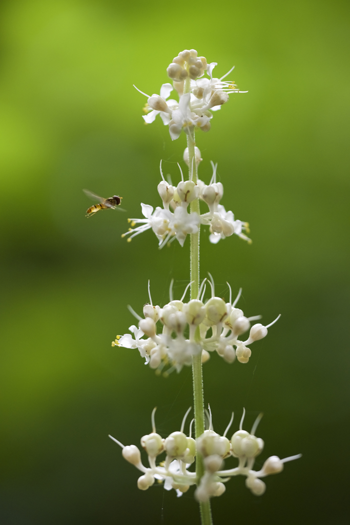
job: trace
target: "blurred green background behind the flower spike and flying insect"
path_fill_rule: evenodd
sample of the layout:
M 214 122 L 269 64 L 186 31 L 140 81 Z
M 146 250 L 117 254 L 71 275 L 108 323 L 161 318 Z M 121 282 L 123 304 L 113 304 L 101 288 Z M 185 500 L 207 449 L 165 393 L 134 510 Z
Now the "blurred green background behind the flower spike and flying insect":
M 349 4 L 237 0 L 215 4 L 17 0 L 1 6 L 2 268 L 1 525 L 199 523 L 192 491 L 136 488 L 137 471 L 108 439 L 139 445 L 179 429 L 190 369 L 156 377 L 138 351 L 111 348 L 147 302 L 189 280 L 186 240 L 157 250 L 152 232 L 121 239 L 140 202 L 160 205 L 160 159 L 178 180 L 184 135 L 145 126 L 147 93 L 177 53 L 196 48 L 246 95 L 232 95 L 198 132 L 208 182 L 248 220 L 253 244 L 210 245 L 201 277 L 243 287 L 249 315 L 281 320 L 248 364 L 212 355 L 205 401 L 225 429 L 242 407 L 264 412 L 258 458 L 303 453 L 257 498 L 232 479 L 214 522 L 349 523 L 348 117 Z M 184 164 L 183 164 L 184 165 Z M 128 214 L 87 220 L 87 187 L 122 195 Z M 231 460 L 228 464 L 234 464 Z

